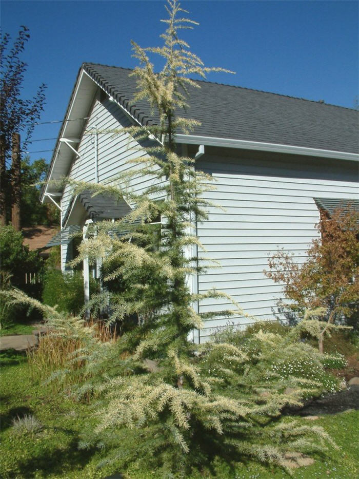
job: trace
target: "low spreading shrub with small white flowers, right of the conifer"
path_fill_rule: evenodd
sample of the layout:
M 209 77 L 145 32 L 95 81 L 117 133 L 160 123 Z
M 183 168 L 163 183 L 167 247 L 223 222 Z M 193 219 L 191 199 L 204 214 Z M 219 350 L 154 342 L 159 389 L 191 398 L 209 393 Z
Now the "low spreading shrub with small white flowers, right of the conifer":
M 301 324 L 290 328 L 277 321 L 261 321 L 244 332 L 231 329 L 216 333 L 214 340 L 217 344 L 227 342 L 240 348 L 249 364 L 263 372 L 263 384 L 268 381 L 271 387 L 275 385 L 285 391 L 290 381 L 297 382 L 296 387 L 303 388 L 303 399 L 337 391 L 339 382 L 328 369 L 343 368 L 346 365 L 344 356 L 320 354 L 301 337 Z M 220 375 L 224 367 L 231 366 L 213 354 L 206 361 L 211 372 Z M 254 381 L 253 385 L 258 387 L 259 383 Z M 309 392 L 304 392 L 306 387 Z

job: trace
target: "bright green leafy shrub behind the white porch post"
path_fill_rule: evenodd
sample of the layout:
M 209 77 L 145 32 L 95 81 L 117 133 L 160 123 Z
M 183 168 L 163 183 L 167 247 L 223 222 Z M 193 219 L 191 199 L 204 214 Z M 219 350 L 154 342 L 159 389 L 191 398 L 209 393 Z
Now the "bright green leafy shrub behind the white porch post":
M 90 278 L 91 295 L 99 290 L 98 282 Z M 57 306 L 58 311 L 78 314 L 84 308 L 84 279 L 79 271 L 63 274 L 59 270 L 48 270 L 44 279 L 43 301 Z

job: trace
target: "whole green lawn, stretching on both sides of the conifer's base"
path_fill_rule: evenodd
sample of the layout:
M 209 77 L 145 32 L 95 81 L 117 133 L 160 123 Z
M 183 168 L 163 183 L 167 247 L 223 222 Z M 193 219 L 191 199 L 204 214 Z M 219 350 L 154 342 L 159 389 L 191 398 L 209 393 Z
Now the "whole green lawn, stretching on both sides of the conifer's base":
M 26 357 L 20 354 L 1 354 L 2 441 L 0 446 L 2 478 L 57 477 L 104 478 L 111 469 L 97 469 L 101 452 L 79 451 L 77 442 L 85 424 L 91 425 L 91 408 L 74 403 L 64 394 L 54 394 L 49 386 L 32 380 Z M 43 429 L 32 435 L 15 436 L 11 421 L 17 415 L 33 414 Z M 305 419 L 298 419 L 308 424 Z M 351 479 L 358 477 L 357 424 L 359 412 L 349 411 L 323 416 L 315 421 L 331 434 L 340 449 L 330 448 L 324 456 L 315 455 L 315 463 L 293 472 L 294 478 Z M 158 477 L 156 471 L 129 470 L 124 477 L 148 479 Z M 193 479 L 218 477 L 223 479 L 255 479 L 289 477 L 282 469 L 259 466 L 256 463 L 225 464 L 213 458 L 211 470 L 194 471 Z

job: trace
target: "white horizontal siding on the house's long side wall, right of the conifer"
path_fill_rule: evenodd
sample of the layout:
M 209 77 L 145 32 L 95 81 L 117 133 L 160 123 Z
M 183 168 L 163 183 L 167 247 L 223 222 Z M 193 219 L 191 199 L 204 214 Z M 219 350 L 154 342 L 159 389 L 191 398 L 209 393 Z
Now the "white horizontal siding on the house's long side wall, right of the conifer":
M 314 226 L 319 213 L 313 197 L 356 199 L 357 170 L 342 162 L 298 163 L 293 159 L 266 161 L 209 155 L 197 164 L 211 174 L 216 186 L 203 197 L 225 208 L 210 206 L 208 220 L 197 225 L 206 249 L 200 256 L 222 265 L 198 277 L 198 291 L 222 290 L 255 320 L 273 320 L 276 303 L 283 298 L 283 285 L 265 276 L 268 257 L 283 248 L 294 252 L 295 261 L 302 263 L 312 240 L 318 237 Z M 201 342 L 228 323 L 242 327 L 253 322 L 241 314 L 221 317 L 225 309 L 233 309 L 225 298 L 207 298 L 200 303 L 200 312 L 218 313 L 206 320 Z

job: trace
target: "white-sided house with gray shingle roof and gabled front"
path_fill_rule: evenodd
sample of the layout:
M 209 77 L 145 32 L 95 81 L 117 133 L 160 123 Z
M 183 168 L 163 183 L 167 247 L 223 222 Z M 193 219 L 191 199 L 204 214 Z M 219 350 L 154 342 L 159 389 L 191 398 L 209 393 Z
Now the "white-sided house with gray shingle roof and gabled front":
M 62 210 L 62 267 L 72 257 L 71 232 L 88 219 L 120 218 L 129 205 L 111 199 L 76 197 L 69 185 L 52 183 L 63 176 L 87 182 L 111 183 L 126 161 L 138 152 L 128 149 L 131 124 L 156 122 L 145 101 L 135 104 L 131 70 L 84 63 L 79 70 L 51 161 L 43 201 Z M 193 277 L 193 291 L 215 286 L 230 294 L 255 318 L 272 318 L 282 296 L 280 284 L 265 277 L 268 255 L 283 247 L 298 261 L 317 236 L 318 205 L 358 200 L 359 112 L 280 94 L 198 82 L 190 108 L 182 116 L 201 122 L 190 135 L 176 136 L 196 167 L 216 180 L 206 198 L 225 210 L 210 208 L 209 219 L 197 224 L 197 235 L 221 269 Z M 111 130 L 118 130 L 116 135 Z M 132 144 L 135 142 L 132 139 Z M 133 183 L 141 191 L 148 178 Z M 218 311 L 207 321 L 196 342 L 205 341 L 213 328 L 224 327 L 226 300 L 208 299 L 200 312 Z M 234 317 L 245 324 L 253 319 Z

